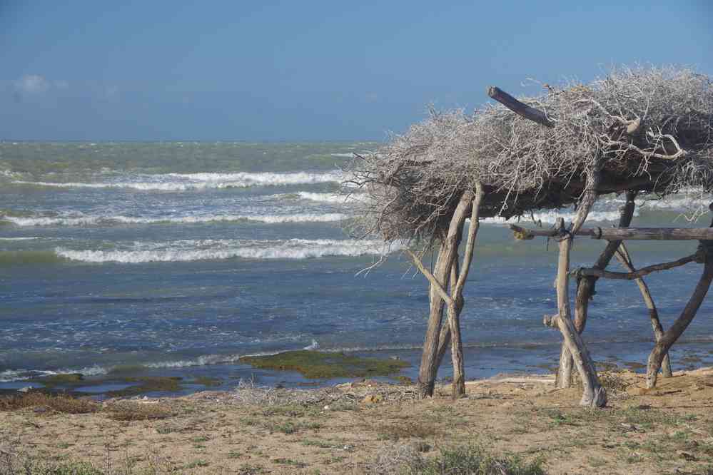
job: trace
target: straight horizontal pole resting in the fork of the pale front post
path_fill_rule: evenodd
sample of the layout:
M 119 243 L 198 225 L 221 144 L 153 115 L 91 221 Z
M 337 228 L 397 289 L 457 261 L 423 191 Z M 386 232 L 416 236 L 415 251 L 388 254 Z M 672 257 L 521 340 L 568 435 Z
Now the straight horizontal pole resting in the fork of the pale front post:
M 510 230 L 518 239 L 532 237 L 557 237 L 560 231 L 555 229 L 528 229 L 510 225 Z M 713 240 L 713 228 L 581 228 L 576 236 L 589 236 L 592 239 L 607 241 L 620 240 Z

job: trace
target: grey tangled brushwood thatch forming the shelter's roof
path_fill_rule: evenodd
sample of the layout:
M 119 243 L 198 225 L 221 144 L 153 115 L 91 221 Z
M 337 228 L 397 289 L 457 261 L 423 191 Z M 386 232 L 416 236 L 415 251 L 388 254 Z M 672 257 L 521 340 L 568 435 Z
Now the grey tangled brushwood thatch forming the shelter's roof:
M 365 192 L 356 227 L 386 241 L 440 240 L 476 182 L 483 218 L 578 202 L 601 170 L 598 194 L 663 197 L 713 189 L 713 87 L 689 69 L 620 68 L 588 84 L 547 86 L 521 99 L 542 126 L 495 104 L 466 115 L 432 112 L 375 153 L 355 158 L 350 190 Z

